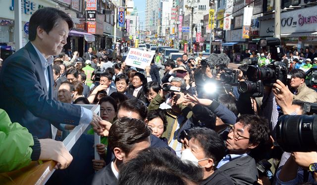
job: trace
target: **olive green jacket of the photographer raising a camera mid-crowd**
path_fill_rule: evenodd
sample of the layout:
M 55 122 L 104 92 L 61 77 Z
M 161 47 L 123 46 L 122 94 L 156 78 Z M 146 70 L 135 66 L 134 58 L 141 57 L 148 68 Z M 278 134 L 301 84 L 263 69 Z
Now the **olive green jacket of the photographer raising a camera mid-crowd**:
M 159 94 L 155 96 L 155 98 L 151 101 L 149 105 L 149 111 L 151 110 L 157 110 L 159 109 L 159 105 L 162 104 L 165 101 L 164 98 L 162 98 Z M 189 107 L 180 105 L 182 115 L 185 117 L 183 123 L 180 125 L 179 128 L 183 126 L 183 124 L 186 122 L 188 118 L 192 116 L 192 110 L 190 110 Z M 187 118 L 187 119 L 186 119 Z M 166 138 L 168 141 L 168 144 L 173 139 L 175 128 L 176 126 L 174 124 L 177 124 L 177 115 L 172 109 L 166 110 L 166 120 L 167 120 L 167 126 L 166 131 L 163 133 L 162 138 Z M 175 122 L 176 121 L 176 122 Z M 178 134 L 178 133 L 177 133 Z

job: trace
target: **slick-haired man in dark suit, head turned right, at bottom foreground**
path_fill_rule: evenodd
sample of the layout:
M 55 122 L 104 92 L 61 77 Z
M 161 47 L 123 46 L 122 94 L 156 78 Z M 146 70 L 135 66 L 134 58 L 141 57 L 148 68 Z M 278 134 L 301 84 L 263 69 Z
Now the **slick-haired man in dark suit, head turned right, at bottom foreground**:
M 108 135 L 108 153 L 114 154 L 114 160 L 99 170 L 88 184 L 117 185 L 120 166 L 135 157 L 138 151 L 150 147 L 151 132 L 140 119 L 122 117 L 116 120 Z

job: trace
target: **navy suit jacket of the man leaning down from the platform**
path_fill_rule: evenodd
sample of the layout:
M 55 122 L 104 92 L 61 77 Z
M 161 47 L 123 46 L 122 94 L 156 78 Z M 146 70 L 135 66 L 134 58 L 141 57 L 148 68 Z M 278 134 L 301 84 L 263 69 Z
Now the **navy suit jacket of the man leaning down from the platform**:
M 47 90 L 40 57 L 29 42 L 3 63 L 0 73 L 0 108 L 39 139 L 52 138 L 51 123 L 78 125 L 80 106 L 53 100 L 53 70 Z

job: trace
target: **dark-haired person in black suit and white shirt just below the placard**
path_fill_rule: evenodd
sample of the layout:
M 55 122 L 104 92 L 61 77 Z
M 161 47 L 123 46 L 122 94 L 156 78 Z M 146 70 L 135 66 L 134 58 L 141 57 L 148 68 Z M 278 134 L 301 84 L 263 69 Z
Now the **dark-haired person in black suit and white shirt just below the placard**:
M 144 96 L 145 93 L 143 91 L 143 84 L 146 83 L 147 79 L 145 76 L 140 72 L 136 72 L 133 76 L 132 84 L 128 87 L 128 93 L 146 103 L 147 99 Z

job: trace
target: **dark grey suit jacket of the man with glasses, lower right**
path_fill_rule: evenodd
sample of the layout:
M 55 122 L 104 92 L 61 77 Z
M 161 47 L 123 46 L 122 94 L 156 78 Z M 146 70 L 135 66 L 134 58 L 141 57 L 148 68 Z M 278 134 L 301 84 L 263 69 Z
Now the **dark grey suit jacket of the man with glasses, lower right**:
M 254 185 L 258 182 L 256 161 L 249 155 L 227 162 L 219 170 L 226 172 L 235 185 Z

